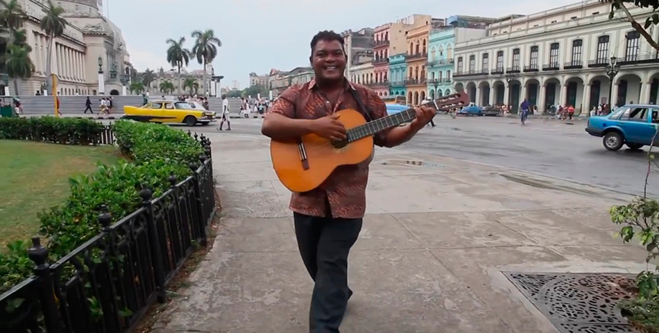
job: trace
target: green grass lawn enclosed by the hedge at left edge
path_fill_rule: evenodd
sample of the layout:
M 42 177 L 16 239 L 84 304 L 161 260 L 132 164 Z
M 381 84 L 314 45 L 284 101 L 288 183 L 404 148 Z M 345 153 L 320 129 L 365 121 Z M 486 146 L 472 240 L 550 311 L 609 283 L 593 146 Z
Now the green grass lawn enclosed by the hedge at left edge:
M 65 146 L 0 140 L 0 251 L 39 231 L 37 213 L 60 205 L 69 195 L 69 178 L 92 173 L 96 164 L 115 164 L 112 146 Z

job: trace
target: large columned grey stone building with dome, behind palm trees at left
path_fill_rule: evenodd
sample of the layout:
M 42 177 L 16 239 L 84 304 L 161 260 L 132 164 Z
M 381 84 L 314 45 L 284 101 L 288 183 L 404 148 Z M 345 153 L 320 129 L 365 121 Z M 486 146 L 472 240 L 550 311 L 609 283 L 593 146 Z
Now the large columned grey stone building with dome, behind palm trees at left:
M 32 78 L 22 80 L 19 95 L 34 95 L 46 82 L 46 48 L 48 38 L 40 28 L 46 0 L 22 0 L 26 13 L 23 28 L 32 46 L 30 57 L 35 65 Z M 102 0 L 53 0 L 62 6 L 69 23 L 64 35 L 55 38 L 51 54 L 51 71 L 58 76 L 58 94 L 119 95 L 130 85 L 135 70 L 130 65 L 126 40 L 121 30 L 102 15 Z M 102 83 L 99 85 L 99 78 Z M 15 94 L 10 84 L 10 93 Z

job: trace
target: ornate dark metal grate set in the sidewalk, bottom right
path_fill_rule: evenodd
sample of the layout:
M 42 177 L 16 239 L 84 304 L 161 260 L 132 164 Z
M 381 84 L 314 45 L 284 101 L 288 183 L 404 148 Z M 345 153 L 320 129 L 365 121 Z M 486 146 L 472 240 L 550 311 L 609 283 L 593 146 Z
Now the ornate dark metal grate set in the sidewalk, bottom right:
M 637 332 L 616 307 L 633 297 L 620 286 L 634 275 L 504 274 L 560 332 Z

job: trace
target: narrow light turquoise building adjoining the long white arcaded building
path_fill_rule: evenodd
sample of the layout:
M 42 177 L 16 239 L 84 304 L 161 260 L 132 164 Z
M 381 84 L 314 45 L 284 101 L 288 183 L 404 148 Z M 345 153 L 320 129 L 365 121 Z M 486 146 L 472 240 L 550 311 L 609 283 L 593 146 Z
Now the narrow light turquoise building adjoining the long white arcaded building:
M 454 68 L 455 28 L 443 26 L 431 30 L 428 46 L 427 96 L 435 99 L 435 96 L 452 94 L 454 92 L 452 71 Z

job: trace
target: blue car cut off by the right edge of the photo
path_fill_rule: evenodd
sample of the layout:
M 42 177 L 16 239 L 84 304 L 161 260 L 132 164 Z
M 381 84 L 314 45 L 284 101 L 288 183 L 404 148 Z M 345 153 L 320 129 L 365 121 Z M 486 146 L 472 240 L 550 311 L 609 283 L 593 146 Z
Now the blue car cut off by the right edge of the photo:
M 606 116 L 590 117 L 585 131 L 602 137 L 604 148 L 617 151 L 626 145 L 640 149 L 652 143 L 659 126 L 659 106 L 632 104 L 617 108 Z

